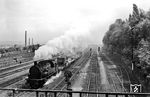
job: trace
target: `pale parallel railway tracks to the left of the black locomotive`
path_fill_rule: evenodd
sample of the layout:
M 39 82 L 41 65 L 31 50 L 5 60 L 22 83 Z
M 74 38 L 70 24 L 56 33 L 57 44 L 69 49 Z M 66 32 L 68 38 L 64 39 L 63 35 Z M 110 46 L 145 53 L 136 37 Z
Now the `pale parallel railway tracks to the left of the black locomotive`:
M 33 61 L 17 64 L 0 69 L 0 87 L 4 88 L 22 80 L 28 74 Z

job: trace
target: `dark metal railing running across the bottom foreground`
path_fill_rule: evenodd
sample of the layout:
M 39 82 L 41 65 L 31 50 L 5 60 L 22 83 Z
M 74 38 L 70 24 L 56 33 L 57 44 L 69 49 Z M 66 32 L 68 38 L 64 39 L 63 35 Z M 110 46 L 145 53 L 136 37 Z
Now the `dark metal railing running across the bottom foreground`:
M 58 97 L 57 94 L 59 93 L 65 93 L 68 94 L 69 97 L 73 97 L 73 94 L 78 94 L 78 97 L 83 97 L 83 94 L 93 94 L 93 95 L 104 95 L 105 97 L 129 97 L 129 96 L 150 96 L 150 93 L 121 93 L 121 92 L 115 92 L 115 93 L 108 93 L 108 92 L 89 92 L 89 91 L 61 91 L 61 90 L 36 90 L 36 89 L 0 89 L 0 91 L 9 91 L 12 93 L 10 97 L 16 97 L 15 94 L 18 92 L 34 92 L 36 95 L 34 97 L 52 97 L 48 94 L 53 94 L 53 97 Z M 40 93 L 42 93 L 40 95 Z M 0 94 L 1 95 L 1 94 Z M 77 95 L 76 95 L 77 97 Z

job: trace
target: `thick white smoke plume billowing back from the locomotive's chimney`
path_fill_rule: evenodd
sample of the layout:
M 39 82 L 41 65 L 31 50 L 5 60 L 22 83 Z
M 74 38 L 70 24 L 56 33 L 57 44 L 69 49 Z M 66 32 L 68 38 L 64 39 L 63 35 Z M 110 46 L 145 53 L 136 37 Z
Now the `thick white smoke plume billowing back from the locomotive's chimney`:
M 34 60 L 49 59 L 58 53 L 75 53 L 75 49 L 84 49 L 90 41 L 90 23 L 87 21 L 74 22 L 64 35 L 49 40 L 35 51 Z

